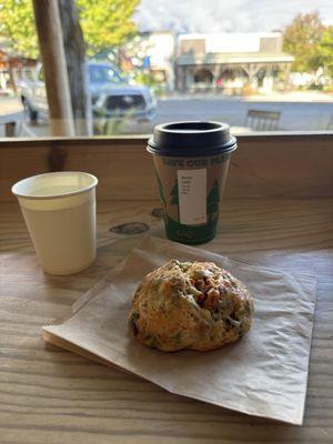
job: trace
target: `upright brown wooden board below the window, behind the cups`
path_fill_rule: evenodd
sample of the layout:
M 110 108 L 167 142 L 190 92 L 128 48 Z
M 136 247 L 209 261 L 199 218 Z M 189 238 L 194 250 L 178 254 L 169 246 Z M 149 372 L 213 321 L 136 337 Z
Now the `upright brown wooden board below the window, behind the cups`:
M 240 135 L 238 145 L 225 196 L 333 196 L 333 133 Z M 158 199 L 145 147 L 144 137 L 0 141 L 0 201 L 14 201 L 17 181 L 58 170 L 97 175 L 100 200 Z

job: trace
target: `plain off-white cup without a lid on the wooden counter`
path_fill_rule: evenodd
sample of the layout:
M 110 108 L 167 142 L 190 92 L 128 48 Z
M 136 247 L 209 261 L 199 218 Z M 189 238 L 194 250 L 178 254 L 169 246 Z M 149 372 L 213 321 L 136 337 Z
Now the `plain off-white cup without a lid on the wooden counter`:
M 42 269 L 72 274 L 95 259 L 94 175 L 56 172 L 17 182 L 17 195 Z

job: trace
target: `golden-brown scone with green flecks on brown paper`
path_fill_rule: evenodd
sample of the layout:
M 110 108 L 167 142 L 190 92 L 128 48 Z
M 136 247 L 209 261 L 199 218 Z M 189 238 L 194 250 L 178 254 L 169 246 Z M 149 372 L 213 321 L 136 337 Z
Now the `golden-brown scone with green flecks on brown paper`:
M 210 351 L 246 333 L 252 314 L 248 289 L 226 270 L 173 259 L 137 289 L 129 329 L 141 343 L 164 352 Z

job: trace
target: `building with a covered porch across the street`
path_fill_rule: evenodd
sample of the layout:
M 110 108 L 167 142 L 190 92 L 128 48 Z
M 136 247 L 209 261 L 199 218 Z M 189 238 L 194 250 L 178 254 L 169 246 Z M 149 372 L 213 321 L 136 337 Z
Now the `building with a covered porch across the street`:
M 271 92 L 278 79 L 287 81 L 294 60 L 282 46 L 281 32 L 181 34 L 175 88 L 183 92 L 220 89 L 232 94 L 249 87 Z

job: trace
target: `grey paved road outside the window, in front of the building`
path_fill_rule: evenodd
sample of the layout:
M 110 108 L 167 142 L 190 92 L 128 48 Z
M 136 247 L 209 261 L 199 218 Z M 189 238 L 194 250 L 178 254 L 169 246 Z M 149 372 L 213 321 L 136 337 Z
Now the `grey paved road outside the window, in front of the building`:
M 248 111 L 280 111 L 279 130 L 306 131 L 326 130 L 333 118 L 332 102 L 292 102 L 292 101 L 253 101 L 241 98 L 208 98 L 208 99 L 165 99 L 158 102 L 157 118 L 151 122 L 122 122 L 110 133 L 144 134 L 151 133 L 155 124 L 176 120 L 218 120 L 233 127 L 244 127 Z M 333 128 L 331 128 L 333 129 Z M 26 125 L 22 135 L 49 135 L 46 122 L 38 125 Z

